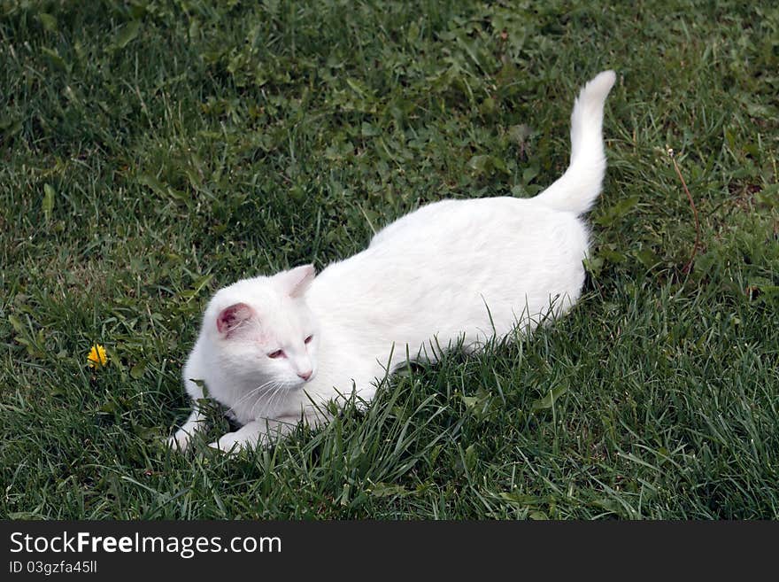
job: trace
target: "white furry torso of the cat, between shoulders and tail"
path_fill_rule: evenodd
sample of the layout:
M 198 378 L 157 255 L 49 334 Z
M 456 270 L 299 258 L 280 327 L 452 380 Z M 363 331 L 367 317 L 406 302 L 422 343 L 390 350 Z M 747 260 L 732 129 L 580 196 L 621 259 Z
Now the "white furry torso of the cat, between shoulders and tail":
M 448 200 L 408 214 L 365 251 L 329 265 L 307 297 L 323 334 L 340 330 L 338 338 L 374 357 L 392 343 L 415 353 L 433 336 L 442 345 L 460 334 L 479 342 L 573 305 L 587 238 L 574 213 L 530 200 Z

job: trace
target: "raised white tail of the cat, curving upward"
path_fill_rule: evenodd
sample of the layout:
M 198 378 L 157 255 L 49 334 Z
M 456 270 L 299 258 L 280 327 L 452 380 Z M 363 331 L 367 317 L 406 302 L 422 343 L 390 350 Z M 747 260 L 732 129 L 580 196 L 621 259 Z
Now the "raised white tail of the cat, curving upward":
M 536 201 L 575 214 L 595 203 L 605 175 L 603 105 L 615 80 L 613 71 L 604 71 L 582 88 L 571 113 L 571 163 Z

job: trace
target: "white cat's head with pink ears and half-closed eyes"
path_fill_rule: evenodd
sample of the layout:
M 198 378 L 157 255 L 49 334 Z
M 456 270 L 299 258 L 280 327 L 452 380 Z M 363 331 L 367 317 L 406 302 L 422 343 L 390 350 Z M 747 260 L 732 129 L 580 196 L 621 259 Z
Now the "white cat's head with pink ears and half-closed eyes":
M 316 375 L 319 326 L 305 303 L 315 274 L 304 265 L 244 279 L 213 296 L 202 333 L 223 373 L 290 389 Z

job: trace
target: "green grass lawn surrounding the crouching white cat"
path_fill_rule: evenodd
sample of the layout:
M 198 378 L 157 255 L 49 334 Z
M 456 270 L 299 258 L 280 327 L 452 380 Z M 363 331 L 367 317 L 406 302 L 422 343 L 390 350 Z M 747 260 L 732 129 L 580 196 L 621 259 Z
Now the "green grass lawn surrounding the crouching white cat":
M 568 4 L 4 3 L 0 516 L 779 517 L 779 9 Z M 270 450 L 161 445 L 212 291 L 534 194 L 604 68 L 571 314 Z

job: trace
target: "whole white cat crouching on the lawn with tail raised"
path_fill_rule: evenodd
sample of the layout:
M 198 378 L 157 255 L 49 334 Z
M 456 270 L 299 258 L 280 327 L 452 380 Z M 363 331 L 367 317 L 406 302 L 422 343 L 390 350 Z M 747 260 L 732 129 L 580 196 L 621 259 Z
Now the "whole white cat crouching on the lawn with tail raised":
M 316 277 L 305 265 L 218 291 L 183 371 L 194 410 L 170 444 L 183 449 L 204 428 L 202 385 L 242 425 L 211 446 L 267 444 L 301 421 L 325 422 L 329 400 L 371 400 L 408 356 L 435 361 L 459 342 L 474 350 L 566 312 L 584 282 L 579 216 L 601 190 L 614 79 L 605 71 L 582 89 L 570 166 L 535 198 L 436 202 Z

